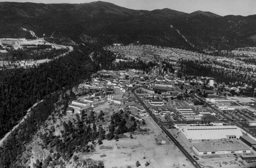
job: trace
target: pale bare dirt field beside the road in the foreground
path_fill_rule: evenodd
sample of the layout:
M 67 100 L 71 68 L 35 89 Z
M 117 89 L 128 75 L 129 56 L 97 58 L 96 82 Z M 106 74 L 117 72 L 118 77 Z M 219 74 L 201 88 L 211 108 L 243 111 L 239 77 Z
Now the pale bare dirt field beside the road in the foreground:
M 106 168 L 136 167 L 135 162 L 137 160 L 142 168 L 145 167 L 146 161 L 150 163 L 147 166 L 149 168 L 193 167 L 190 162 L 185 161 L 186 157 L 163 135 L 154 121 L 149 119 L 150 117 L 143 118 L 146 121 L 144 127 L 150 129 L 149 134 L 133 135 L 133 139 L 104 140 L 102 145 L 96 145 L 95 152 L 89 155 L 80 154 L 80 159 L 89 157 L 93 160 L 102 160 Z M 129 134 L 126 135 L 130 136 Z M 157 137 L 161 140 L 166 140 L 167 144 L 158 145 L 155 141 Z M 145 159 L 143 158 L 144 156 Z

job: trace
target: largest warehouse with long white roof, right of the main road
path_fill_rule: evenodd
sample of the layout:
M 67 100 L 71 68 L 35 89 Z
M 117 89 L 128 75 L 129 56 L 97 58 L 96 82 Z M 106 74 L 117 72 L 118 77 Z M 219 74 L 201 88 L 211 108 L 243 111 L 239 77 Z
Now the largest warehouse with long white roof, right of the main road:
M 181 127 L 179 131 L 189 140 L 236 139 L 243 135 L 237 126 L 191 126 Z

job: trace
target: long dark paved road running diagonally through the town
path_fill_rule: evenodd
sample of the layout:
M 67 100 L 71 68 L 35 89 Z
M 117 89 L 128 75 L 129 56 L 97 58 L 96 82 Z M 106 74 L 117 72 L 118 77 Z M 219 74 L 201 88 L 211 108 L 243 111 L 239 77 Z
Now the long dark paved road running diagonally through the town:
M 154 78 L 152 78 L 151 80 L 155 79 L 156 77 L 158 77 L 160 75 L 161 72 L 161 65 L 159 67 L 159 73 L 157 76 L 155 76 Z M 180 151 L 188 158 L 188 160 L 192 163 L 193 166 L 195 166 L 196 168 L 201 168 L 201 166 L 196 162 L 196 160 L 194 158 L 192 158 L 192 156 L 182 147 L 182 145 L 180 144 L 179 141 L 176 140 L 176 138 L 174 138 L 170 132 L 168 130 L 165 129 L 165 127 L 162 125 L 162 123 L 160 123 L 157 120 L 157 117 L 155 115 L 153 115 L 153 113 L 150 111 L 150 109 L 144 104 L 144 102 L 140 99 L 140 97 L 138 95 L 136 95 L 135 90 L 138 87 L 134 87 L 132 88 L 131 92 L 133 93 L 133 95 L 135 96 L 135 98 L 141 103 L 141 105 L 145 108 L 145 110 L 149 113 L 150 117 L 155 121 L 155 123 L 157 123 L 157 125 L 162 129 L 162 131 L 164 132 L 165 135 L 167 135 L 172 141 L 173 143 L 180 149 Z M 195 163 L 195 164 L 194 164 Z

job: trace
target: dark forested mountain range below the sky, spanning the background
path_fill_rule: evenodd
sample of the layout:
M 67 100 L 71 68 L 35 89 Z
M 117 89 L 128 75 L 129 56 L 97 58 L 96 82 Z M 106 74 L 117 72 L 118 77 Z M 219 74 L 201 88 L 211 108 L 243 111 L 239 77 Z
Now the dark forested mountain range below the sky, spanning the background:
M 59 43 L 67 39 L 105 45 L 140 41 L 196 51 L 256 45 L 252 38 L 256 34 L 256 15 L 222 17 L 211 12 L 189 14 L 167 8 L 132 10 L 102 1 L 82 4 L 0 2 L 0 15 L 0 38 L 25 37 L 21 30 L 24 27 L 33 30 L 38 37 L 45 34 L 46 39 Z

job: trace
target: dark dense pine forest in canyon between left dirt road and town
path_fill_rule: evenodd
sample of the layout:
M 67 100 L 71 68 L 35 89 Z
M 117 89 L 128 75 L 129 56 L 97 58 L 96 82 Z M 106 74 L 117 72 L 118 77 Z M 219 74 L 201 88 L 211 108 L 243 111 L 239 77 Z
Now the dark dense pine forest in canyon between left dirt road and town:
M 37 67 L 0 71 L 0 136 L 16 125 L 35 102 L 54 91 L 72 88 L 88 79 L 92 72 L 99 70 L 99 63 L 108 69 L 108 64 L 115 59 L 102 47 L 84 46 L 79 50 Z M 94 62 L 88 56 L 92 51 L 98 52 Z

